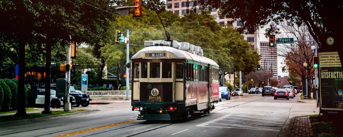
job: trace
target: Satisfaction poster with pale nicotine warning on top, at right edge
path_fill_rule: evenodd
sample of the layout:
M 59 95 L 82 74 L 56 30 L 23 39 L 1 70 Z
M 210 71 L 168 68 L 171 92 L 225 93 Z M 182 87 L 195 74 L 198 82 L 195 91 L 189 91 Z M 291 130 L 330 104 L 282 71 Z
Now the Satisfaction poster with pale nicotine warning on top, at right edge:
M 319 53 L 321 108 L 343 110 L 343 72 L 338 52 Z

